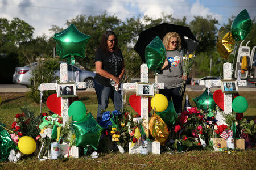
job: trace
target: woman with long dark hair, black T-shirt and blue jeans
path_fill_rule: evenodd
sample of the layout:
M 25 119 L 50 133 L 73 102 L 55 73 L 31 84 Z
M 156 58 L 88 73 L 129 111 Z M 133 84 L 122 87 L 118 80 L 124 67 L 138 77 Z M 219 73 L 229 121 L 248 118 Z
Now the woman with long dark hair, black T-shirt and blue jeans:
M 94 88 L 98 99 L 97 121 L 101 120 L 101 112 L 108 108 L 109 98 L 113 101 L 116 110 L 122 108 L 121 91 L 115 90 L 120 86 L 125 74 L 125 62 L 118 48 L 118 38 L 113 31 L 106 31 L 100 41 L 95 55 L 96 75 Z M 114 81 L 115 86 L 110 84 Z

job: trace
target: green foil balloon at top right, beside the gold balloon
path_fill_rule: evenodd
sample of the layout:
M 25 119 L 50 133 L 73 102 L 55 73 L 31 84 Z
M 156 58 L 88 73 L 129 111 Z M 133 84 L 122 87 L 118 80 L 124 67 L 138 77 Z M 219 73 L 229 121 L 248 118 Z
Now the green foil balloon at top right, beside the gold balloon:
M 234 40 L 244 40 L 251 31 L 251 25 L 253 25 L 253 22 L 251 22 L 251 18 L 247 10 L 240 12 L 231 25 L 231 33 Z

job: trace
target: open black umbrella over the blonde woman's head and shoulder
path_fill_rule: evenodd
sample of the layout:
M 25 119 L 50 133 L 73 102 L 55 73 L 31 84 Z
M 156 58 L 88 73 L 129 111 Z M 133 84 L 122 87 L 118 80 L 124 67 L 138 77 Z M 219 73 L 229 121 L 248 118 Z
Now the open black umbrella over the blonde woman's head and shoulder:
M 187 43 L 184 40 L 184 37 L 189 37 L 192 40 L 196 40 L 195 36 L 189 29 L 189 27 L 184 27 L 180 25 L 162 23 L 156 25 L 155 27 L 146 29 L 139 33 L 139 39 L 134 46 L 134 50 L 141 56 L 142 62 L 145 62 L 145 49 L 146 46 L 156 37 L 159 36 L 163 40 L 164 35 L 167 32 L 177 32 L 179 33 L 181 39 L 181 48 L 187 49 Z

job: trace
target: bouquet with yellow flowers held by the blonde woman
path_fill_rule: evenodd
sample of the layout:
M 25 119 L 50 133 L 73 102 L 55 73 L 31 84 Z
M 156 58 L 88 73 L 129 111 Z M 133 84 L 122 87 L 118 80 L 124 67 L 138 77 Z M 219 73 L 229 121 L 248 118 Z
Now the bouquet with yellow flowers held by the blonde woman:
M 187 55 L 183 57 L 183 75 L 184 76 L 190 73 L 193 62 L 195 61 L 195 57 L 196 57 L 195 54 L 189 54 L 188 57 Z M 186 80 L 183 79 L 183 83 L 179 91 L 180 95 L 184 90 L 185 82 Z

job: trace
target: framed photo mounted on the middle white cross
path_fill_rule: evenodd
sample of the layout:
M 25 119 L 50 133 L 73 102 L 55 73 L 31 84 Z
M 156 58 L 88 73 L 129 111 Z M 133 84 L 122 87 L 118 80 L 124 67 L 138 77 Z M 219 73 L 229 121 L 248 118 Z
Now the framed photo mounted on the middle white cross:
M 154 84 L 153 83 L 136 83 L 136 96 L 152 97 L 154 96 Z

